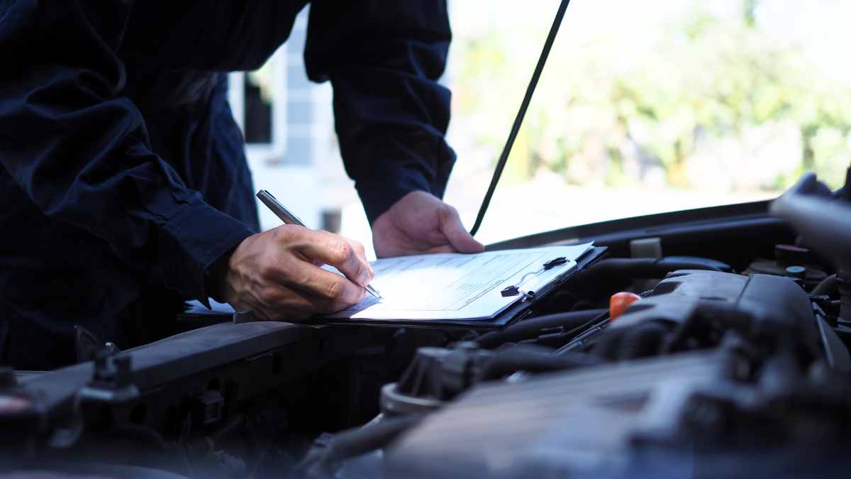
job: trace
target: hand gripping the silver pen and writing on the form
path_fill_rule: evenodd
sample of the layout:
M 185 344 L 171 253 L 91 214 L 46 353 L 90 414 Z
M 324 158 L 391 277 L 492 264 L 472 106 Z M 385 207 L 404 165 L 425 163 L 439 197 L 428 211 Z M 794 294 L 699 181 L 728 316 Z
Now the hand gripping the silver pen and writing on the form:
M 346 277 L 321 268 L 323 264 Z M 223 286 L 227 303 L 237 311 L 266 320 L 299 320 L 357 303 L 374 274 L 357 241 L 283 225 L 237 246 Z

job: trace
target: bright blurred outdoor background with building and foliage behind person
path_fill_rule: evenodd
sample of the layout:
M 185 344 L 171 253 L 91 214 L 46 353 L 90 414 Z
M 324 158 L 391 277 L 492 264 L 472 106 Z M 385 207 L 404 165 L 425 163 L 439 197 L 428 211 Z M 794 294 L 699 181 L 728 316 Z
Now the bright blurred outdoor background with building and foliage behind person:
M 445 199 L 468 227 L 557 7 L 449 0 L 458 161 Z M 330 86 L 304 72 L 306 13 L 266 66 L 231 75 L 231 107 L 256 188 L 371 245 Z M 848 18 L 835 0 L 574 0 L 477 238 L 773 198 L 805 170 L 841 186 Z M 260 213 L 264 229 L 280 223 Z

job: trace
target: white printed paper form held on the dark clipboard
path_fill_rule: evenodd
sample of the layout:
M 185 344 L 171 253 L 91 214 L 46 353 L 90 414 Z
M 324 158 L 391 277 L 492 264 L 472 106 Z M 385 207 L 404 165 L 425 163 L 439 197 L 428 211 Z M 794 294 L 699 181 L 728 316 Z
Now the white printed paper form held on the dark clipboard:
M 370 295 L 329 318 L 373 320 L 485 320 L 494 318 L 523 295 L 503 297 L 505 286 L 535 291 L 575 268 L 591 243 L 477 254 L 443 253 L 383 258 L 372 264 L 372 285 L 384 297 Z M 544 263 L 565 257 L 551 269 Z

